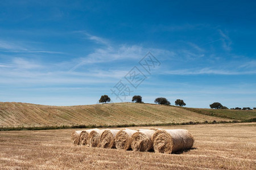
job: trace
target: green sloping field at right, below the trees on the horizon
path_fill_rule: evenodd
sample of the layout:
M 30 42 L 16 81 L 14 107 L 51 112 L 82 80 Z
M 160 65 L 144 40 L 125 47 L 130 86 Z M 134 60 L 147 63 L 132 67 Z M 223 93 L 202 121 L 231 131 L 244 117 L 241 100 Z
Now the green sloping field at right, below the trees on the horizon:
M 201 109 L 201 108 L 184 108 L 191 112 L 205 114 L 209 116 L 218 116 L 223 118 L 231 118 L 235 120 L 250 120 L 256 119 L 256 110 L 243 111 L 243 110 L 230 110 L 230 109 Z

